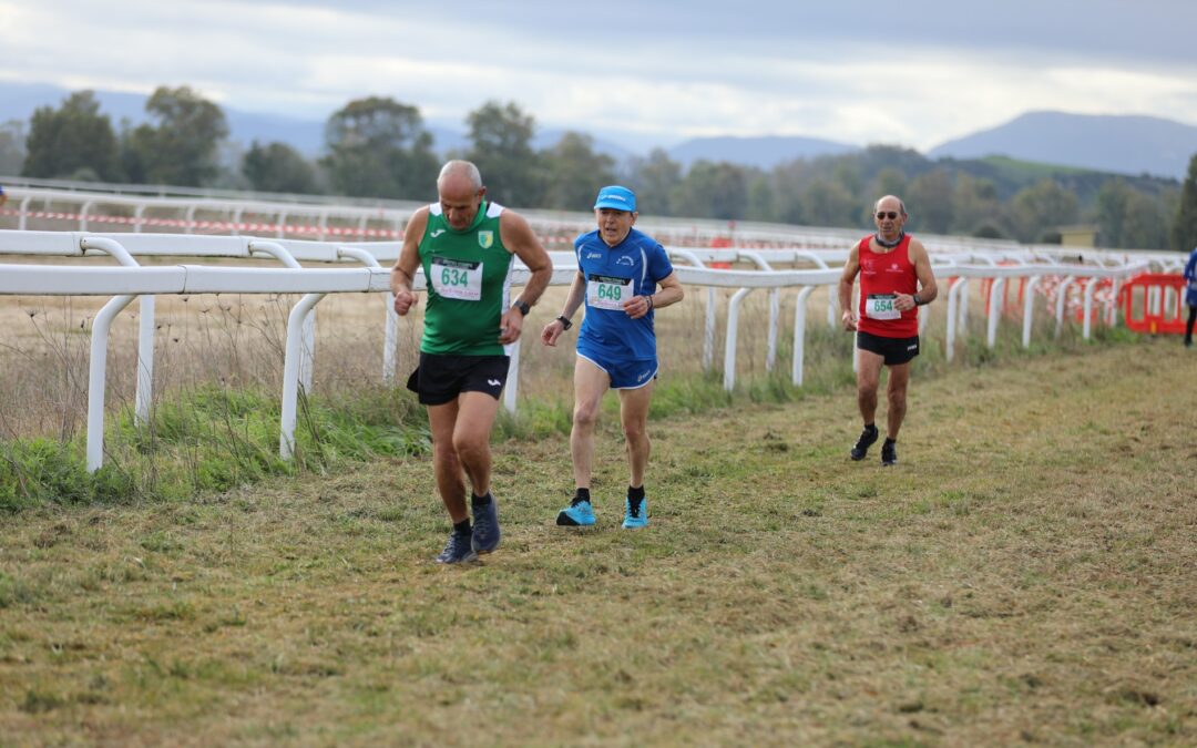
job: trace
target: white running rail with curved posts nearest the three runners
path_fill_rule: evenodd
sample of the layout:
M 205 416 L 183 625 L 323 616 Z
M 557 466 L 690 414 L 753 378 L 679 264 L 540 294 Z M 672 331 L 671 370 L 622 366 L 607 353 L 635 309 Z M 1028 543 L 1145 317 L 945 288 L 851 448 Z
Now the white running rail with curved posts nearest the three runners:
M 107 381 L 107 353 L 109 328 L 116 315 L 134 298 L 140 298 L 141 318 L 138 343 L 138 393 L 135 415 L 146 422 L 152 402 L 151 383 L 153 372 L 154 294 L 195 293 L 300 293 L 304 294 L 292 308 L 286 328 L 286 351 L 282 375 L 282 402 L 280 419 L 279 451 L 284 458 L 294 452 L 294 428 L 297 402 L 300 391 L 311 389 L 311 357 L 314 354 L 314 310 L 329 293 L 379 293 L 387 299 L 384 311 L 385 342 L 383 348 L 382 378 L 394 381 L 397 361 L 397 316 L 391 310 L 389 292 L 389 266 L 397 256 L 397 242 L 373 242 L 369 244 L 339 244 L 302 241 L 271 241 L 251 237 L 205 237 L 177 235 L 90 235 L 80 232 L 22 232 L 0 231 L 0 255 L 66 256 L 83 257 L 107 254 L 119 267 L 80 267 L 45 264 L 0 264 L 0 294 L 17 296 L 114 296 L 97 315 L 92 328 L 91 359 L 89 370 L 87 407 L 87 467 L 98 469 L 103 463 L 104 390 Z M 806 309 L 808 297 L 818 288 L 827 290 L 827 323 L 838 324 L 836 294 L 846 250 L 774 249 L 748 250 L 727 249 L 670 249 L 679 279 L 691 286 L 707 288 L 705 298 L 705 330 L 703 363 L 713 367 L 715 329 L 717 318 L 717 288 L 735 288 L 728 302 L 727 330 L 723 357 L 723 384 L 731 390 L 736 379 L 736 348 L 741 303 L 751 292 L 764 288 L 770 292 L 766 370 L 776 364 L 777 341 L 780 326 L 782 292 L 795 290 L 794 347 L 791 379 L 802 384 L 803 347 L 806 336 Z M 138 256 L 170 257 L 221 257 L 261 259 L 273 257 L 284 267 L 212 267 L 195 264 L 138 266 Z M 572 282 L 577 266 L 572 253 L 552 253 L 553 276 L 551 285 L 566 286 Z M 971 279 L 986 279 L 995 284 L 990 294 L 988 345 L 996 341 L 997 324 L 1002 317 L 996 308 L 999 284 L 1008 279 L 1026 279 L 1027 303 L 1023 309 L 1023 345 L 1029 345 L 1031 304 L 1034 285 L 1044 278 L 1063 278 L 1057 287 L 1056 329 L 1063 324 L 1064 297 L 1075 279 L 1084 280 L 1083 336 L 1090 335 L 1090 311 L 1094 303 L 1093 290 L 1098 279 L 1125 280 L 1149 267 L 1162 267 L 1172 260 L 1128 260 L 1124 256 L 1102 255 L 1100 259 L 1077 256 L 1067 259 L 1078 262 L 1062 262 L 1063 255 L 1053 256 L 1043 250 L 1014 253 L 995 249 L 989 253 L 970 250 L 956 254 L 935 255 L 936 274 L 953 278 L 947 290 L 947 358 L 954 353 L 958 323 L 966 322 L 967 284 Z M 357 263 L 353 268 L 305 268 L 300 261 L 318 263 Z M 688 264 L 682 264 L 686 262 Z M 757 269 L 712 269 L 712 262 L 751 264 Z M 1083 264 L 1081 264 L 1083 262 Z M 1002 263 L 1002 264 L 999 264 Z M 774 269 L 778 266 L 813 264 L 812 269 Z M 514 285 L 527 282 L 528 270 L 517 263 Z M 423 276 L 417 279 L 423 288 Z M 1107 304 L 1112 302 L 1107 300 Z M 925 327 L 929 308 L 922 310 Z M 1107 324 L 1117 321 L 1112 306 L 1104 316 Z M 525 336 L 527 337 L 527 336 Z M 511 375 L 504 395 L 504 405 L 515 411 L 519 347 L 510 347 Z

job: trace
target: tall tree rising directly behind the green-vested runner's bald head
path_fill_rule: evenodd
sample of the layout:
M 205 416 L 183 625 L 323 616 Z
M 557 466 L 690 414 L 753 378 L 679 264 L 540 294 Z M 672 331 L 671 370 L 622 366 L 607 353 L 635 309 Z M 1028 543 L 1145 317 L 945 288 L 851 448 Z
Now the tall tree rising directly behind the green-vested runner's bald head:
M 514 102 L 486 102 L 466 117 L 470 147 L 466 158 L 482 172 L 486 191 L 504 205 L 536 207 L 545 195 L 545 172 L 531 147 L 536 122 Z

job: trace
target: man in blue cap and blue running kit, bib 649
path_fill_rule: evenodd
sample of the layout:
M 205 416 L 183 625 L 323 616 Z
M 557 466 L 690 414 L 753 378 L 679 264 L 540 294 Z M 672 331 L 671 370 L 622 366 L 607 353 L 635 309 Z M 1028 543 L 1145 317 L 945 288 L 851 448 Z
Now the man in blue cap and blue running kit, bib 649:
M 619 391 L 619 415 L 627 440 L 630 478 L 624 527 L 636 529 L 649 523 L 644 470 L 649 464 L 649 403 L 657 376 L 654 310 L 680 302 L 682 287 L 664 248 L 632 227 L 638 215 L 632 190 L 613 186 L 598 191 L 598 229 L 575 239 L 578 274 L 561 316 L 541 333 L 541 342 L 555 346 L 561 333 L 573 326 L 570 317 L 585 304 L 573 367 L 570 432 L 577 493 L 558 513 L 557 524 L 595 523 L 590 500 L 595 419 L 608 389 Z

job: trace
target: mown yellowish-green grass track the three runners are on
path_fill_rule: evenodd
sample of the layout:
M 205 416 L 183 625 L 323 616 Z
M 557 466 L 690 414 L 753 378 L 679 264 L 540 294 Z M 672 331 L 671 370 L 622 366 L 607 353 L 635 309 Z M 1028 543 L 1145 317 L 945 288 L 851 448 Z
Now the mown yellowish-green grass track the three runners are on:
M 893 469 L 844 385 L 657 419 L 638 533 L 612 419 L 593 530 L 499 442 L 469 568 L 426 457 L 0 516 L 0 744 L 1197 743 L 1197 357 L 941 373 Z

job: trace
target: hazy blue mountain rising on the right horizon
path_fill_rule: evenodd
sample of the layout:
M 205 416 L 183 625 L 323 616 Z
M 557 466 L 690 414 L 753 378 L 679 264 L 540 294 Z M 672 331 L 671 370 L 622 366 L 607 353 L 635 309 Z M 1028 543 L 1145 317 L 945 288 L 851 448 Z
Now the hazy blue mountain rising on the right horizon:
M 1010 158 L 1116 174 L 1184 178 L 1197 153 L 1197 127 L 1122 115 L 1032 111 L 931 148 L 931 158 Z

